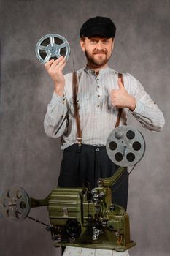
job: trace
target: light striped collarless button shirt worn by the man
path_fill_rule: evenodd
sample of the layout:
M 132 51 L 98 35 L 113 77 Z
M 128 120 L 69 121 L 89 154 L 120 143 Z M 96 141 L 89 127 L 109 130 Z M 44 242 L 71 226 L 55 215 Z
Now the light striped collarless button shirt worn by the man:
M 64 96 L 55 92 L 47 106 L 44 127 L 51 138 L 61 137 L 61 149 L 77 143 L 77 127 L 74 118 L 72 97 L 72 73 L 64 75 Z M 109 133 L 117 121 L 117 108 L 112 105 L 109 97 L 112 89 L 119 89 L 118 73 L 107 67 L 98 75 L 88 67 L 77 71 L 80 125 L 82 143 L 93 146 L 105 146 Z M 136 78 L 123 73 L 125 89 L 136 98 L 136 108 L 131 114 L 147 129 L 160 131 L 164 125 L 163 113 Z M 128 108 L 123 108 L 120 125 L 126 124 Z

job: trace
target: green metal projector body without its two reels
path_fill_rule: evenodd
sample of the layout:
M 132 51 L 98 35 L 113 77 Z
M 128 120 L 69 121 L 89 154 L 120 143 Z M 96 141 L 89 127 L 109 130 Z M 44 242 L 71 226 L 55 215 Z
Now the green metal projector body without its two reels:
M 120 167 L 121 175 L 125 168 Z M 110 180 L 117 180 L 117 173 Z M 107 180 L 108 181 L 108 180 Z M 61 238 L 55 246 L 80 246 L 115 249 L 123 252 L 134 246 L 131 241 L 129 217 L 125 210 L 112 204 L 112 193 L 107 182 L 88 189 L 56 188 L 50 194 L 48 211 L 53 238 Z M 115 183 L 115 182 L 113 182 Z

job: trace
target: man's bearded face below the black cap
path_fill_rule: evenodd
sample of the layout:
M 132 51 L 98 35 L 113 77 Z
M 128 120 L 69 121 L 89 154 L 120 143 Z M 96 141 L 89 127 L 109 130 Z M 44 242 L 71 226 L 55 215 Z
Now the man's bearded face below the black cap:
M 107 37 L 85 37 L 80 40 L 82 50 L 85 52 L 88 64 L 102 67 L 112 55 L 114 39 Z

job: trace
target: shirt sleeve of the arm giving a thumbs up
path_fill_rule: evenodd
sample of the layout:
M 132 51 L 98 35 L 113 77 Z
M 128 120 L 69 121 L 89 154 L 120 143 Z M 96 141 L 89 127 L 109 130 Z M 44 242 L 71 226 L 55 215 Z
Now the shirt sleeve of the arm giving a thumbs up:
M 139 80 L 130 75 L 129 82 L 131 94 L 136 98 L 136 108 L 131 111 L 132 115 L 143 127 L 157 132 L 161 131 L 165 124 L 163 113 L 152 101 Z

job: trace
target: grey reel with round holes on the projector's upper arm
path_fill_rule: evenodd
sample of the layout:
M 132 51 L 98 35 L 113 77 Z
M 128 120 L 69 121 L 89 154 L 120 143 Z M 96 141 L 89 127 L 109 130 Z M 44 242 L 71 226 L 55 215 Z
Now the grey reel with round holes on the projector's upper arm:
M 107 154 L 118 166 L 135 165 L 145 151 L 144 138 L 134 127 L 123 125 L 114 129 L 107 138 Z

